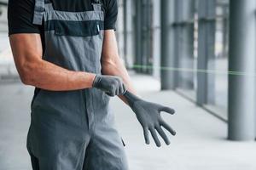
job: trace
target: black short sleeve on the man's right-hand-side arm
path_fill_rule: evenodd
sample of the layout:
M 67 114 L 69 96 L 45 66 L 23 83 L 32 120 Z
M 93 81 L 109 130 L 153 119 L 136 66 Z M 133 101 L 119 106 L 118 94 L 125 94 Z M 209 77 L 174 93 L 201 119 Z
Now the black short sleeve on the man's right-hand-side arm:
M 117 0 L 106 0 L 104 29 L 115 30 L 117 17 L 118 17 Z

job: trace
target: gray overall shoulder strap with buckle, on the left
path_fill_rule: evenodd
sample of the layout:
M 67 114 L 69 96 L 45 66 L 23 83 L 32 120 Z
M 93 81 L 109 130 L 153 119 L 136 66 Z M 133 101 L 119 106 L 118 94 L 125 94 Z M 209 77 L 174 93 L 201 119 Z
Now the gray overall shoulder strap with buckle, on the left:
M 45 8 L 44 5 L 44 0 L 35 0 L 33 24 L 42 25 Z

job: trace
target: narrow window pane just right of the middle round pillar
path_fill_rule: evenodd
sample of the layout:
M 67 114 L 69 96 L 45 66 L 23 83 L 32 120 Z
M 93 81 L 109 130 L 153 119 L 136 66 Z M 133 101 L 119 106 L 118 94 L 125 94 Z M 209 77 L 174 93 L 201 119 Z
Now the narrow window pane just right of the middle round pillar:
M 175 3 L 175 45 L 177 66 L 177 92 L 195 100 L 196 66 L 195 55 L 195 1 L 176 1 Z

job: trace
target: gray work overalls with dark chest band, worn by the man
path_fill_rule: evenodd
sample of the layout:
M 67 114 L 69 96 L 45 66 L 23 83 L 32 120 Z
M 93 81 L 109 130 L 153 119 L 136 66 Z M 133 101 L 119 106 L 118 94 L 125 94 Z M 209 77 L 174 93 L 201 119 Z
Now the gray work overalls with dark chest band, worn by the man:
M 44 60 L 70 71 L 101 74 L 104 13 L 101 3 L 92 5 L 93 11 L 74 13 L 36 0 L 33 24 L 44 23 Z M 108 96 L 96 88 L 40 89 L 32 100 L 27 137 L 33 169 L 127 170 L 108 102 Z

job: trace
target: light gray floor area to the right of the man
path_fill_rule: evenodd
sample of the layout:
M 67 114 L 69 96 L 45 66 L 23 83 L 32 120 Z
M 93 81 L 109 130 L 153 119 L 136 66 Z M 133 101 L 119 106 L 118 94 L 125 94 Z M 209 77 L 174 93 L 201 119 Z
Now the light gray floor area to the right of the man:
M 254 142 L 227 141 L 224 122 L 176 93 L 158 92 L 157 81 L 149 77 L 135 76 L 133 80 L 143 98 L 175 108 L 175 116 L 163 116 L 177 130 L 177 136 L 172 138 L 170 146 L 160 149 L 143 144 L 142 129 L 136 117 L 115 100 L 119 129 L 128 143 L 126 150 L 132 170 L 256 169 Z

